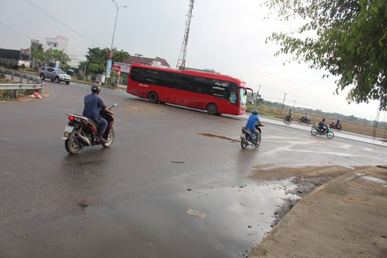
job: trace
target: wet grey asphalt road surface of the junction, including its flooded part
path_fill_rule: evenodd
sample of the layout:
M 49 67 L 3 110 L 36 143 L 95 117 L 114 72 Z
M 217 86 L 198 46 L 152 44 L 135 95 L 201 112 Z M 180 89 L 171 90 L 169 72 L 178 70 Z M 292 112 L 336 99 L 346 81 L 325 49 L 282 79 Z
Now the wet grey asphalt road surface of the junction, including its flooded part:
M 49 98 L 0 103 L 0 257 L 109 257 L 112 250 L 114 257 L 233 257 L 269 231 L 284 194 L 269 194 L 272 187 L 253 195 L 260 182 L 248 179 L 252 172 L 379 165 L 386 157 L 381 146 L 311 136 L 309 127 L 265 118 L 262 146 L 242 150 L 237 141 L 201 134 L 238 139 L 246 117 L 152 104 L 110 89 L 101 97 L 119 103 L 113 146 L 68 155 L 65 113 L 82 112 L 89 88 L 47 82 Z M 208 217 L 191 217 L 189 208 Z M 262 228 L 246 231 L 258 214 Z

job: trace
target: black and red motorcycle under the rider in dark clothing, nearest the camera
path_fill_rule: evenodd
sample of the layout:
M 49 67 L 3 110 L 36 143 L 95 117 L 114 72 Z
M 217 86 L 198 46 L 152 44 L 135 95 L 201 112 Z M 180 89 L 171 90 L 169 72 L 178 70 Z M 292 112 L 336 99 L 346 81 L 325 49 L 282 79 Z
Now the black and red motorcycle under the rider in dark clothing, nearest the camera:
M 113 107 L 117 107 L 118 103 L 112 105 L 109 110 Z M 114 140 L 114 127 L 113 127 L 113 116 L 107 112 L 101 110 L 100 116 L 106 119 L 108 122 L 108 127 L 103 134 L 103 138 L 106 141 L 96 141 L 97 130 L 100 127 L 100 124 L 96 124 L 89 117 L 84 115 L 68 115 L 68 125 L 65 127 L 65 134 L 62 139 L 65 140 L 65 148 L 68 153 L 75 154 L 78 151 L 82 150 L 84 147 L 102 145 L 103 147 L 110 147 Z

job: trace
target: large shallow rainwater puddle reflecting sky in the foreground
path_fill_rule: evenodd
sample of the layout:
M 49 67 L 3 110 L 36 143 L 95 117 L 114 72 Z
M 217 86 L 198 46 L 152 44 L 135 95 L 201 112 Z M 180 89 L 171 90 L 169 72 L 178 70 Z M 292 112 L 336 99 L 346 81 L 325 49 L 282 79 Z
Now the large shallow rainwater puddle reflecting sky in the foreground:
M 272 229 L 276 209 L 289 197 L 289 185 L 192 189 L 109 208 L 89 206 L 82 217 L 56 221 L 44 236 L 30 234 L 19 254 L 24 250 L 26 257 L 35 252 L 39 257 L 247 257 Z M 196 217 L 198 212 L 204 217 Z

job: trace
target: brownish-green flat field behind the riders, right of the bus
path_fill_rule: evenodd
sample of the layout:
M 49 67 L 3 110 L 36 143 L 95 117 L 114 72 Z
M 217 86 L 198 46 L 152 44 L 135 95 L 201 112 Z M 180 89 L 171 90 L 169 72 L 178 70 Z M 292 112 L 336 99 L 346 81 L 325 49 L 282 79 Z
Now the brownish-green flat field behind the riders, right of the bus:
M 248 106 L 248 112 L 251 112 L 253 110 L 252 106 Z M 267 107 L 267 106 L 259 106 L 258 111 L 260 112 L 260 115 L 265 115 L 268 117 L 277 117 L 280 119 L 284 119 L 286 113 L 288 110 L 282 110 L 281 108 L 272 108 L 272 107 Z M 299 113 L 299 112 L 293 112 L 293 122 L 297 122 L 301 117 L 303 117 L 305 113 Z M 309 118 L 311 120 L 311 124 L 316 124 L 316 122 L 320 122 L 323 118 L 326 119 L 325 124 L 330 124 L 332 121 L 337 120 L 337 118 L 333 117 L 317 117 L 315 115 L 309 115 Z M 374 127 L 372 126 L 367 126 L 364 124 L 358 124 L 355 122 L 348 122 L 348 121 L 343 121 L 341 120 L 341 123 L 343 124 L 343 131 L 349 131 L 351 133 L 355 134 L 363 134 L 367 136 L 374 136 Z M 335 131 L 336 129 L 334 129 Z M 387 136 L 387 131 L 386 129 L 378 128 L 376 130 L 376 137 L 378 138 L 386 138 Z

